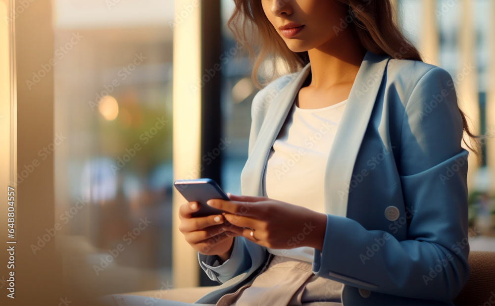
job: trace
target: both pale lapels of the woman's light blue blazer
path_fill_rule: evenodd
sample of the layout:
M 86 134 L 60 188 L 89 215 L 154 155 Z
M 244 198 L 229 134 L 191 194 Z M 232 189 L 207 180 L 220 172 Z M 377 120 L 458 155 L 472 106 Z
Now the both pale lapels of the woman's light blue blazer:
M 359 67 L 326 165 L 326 213 L 346 216 L 352 169 L 389 58 L 368 51 Z M 263 175 L 268 155 L 309 72 L 310 64 L 307 64 L 271 102 L 243 169 L 243 195 L 264 195 Z

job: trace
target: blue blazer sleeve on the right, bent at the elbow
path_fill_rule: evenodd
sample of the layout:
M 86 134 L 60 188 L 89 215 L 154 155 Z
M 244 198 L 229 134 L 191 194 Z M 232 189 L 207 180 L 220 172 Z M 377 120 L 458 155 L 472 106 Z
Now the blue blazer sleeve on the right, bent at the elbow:
M 460 146 L 463 126 L 454 83 L 435 67 L 408 98 L 402 103 L 397 164 L 404 203 L 413 211 L 407 239 L 327 215 L 323 250 L 315 250 L 313 271 L 380 293 L 451 301 L 469 276 L 468 152 Z M 374 244 L 380 249 L 369 260 L 358 260 Z

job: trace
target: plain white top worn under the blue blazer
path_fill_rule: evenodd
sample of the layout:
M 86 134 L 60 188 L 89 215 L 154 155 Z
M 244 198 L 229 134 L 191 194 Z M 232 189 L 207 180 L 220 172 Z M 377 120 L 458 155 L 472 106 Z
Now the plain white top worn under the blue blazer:
M 268 156 L 263 176 L 265 197 L 325 212 L 325 168 L 346 102 L 314 109 L 293 104 Z M 303 238 L 301 228 L 287 244 L 295 246 Z M 268 248 L 268 252 L 313 262 L 314 249 L 309 247 Z

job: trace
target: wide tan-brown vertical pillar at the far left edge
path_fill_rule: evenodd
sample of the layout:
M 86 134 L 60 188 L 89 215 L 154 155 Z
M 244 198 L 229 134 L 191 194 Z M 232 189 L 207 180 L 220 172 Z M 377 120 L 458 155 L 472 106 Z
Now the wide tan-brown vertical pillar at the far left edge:
M 0 10 L 4 10 L 2 1 Z M 54 56 L 54 35 L 51 1 L 9 3 L 8 23 L 14 30 L 10 41 L 10 151 L 15 188 L 15 299 L 0 298 L 2 305 L 57 305 L 63 298 L 61 256 L 53 239 L 41 247 L 40 237 L 55 223 L 53 154 L 42 159 L 38 152 L 54 141 L 53 133 L 53 69 L 46 72 L 41 65 Z M 3 25 L 2 25 L 3 27 Z M 2 42 L 3 48 L 3 42 Z M 40 72 L 41 71 L 41 72 Z M 3 73 L 3 70 L 2 70 Z M 2 80 L 3 81 L 3 80 Z M 5 103 L 5 101 L 1 101 Z M 2 107 L 3 108 L 3 107 Z M 8 143 L 7 143 L 8 144 Z M 2 155 L 3 158 L 3 155 Z M 15 168 L 16 167 L 16 168 Z M 0 186 L 6 194 L 7 186 Z M 6 205 L 5 202 L 2 204 Z M 4 209 L 5 214 L 7 209 Z M 1 226 L 6 226 L 3 223 Z M 46 239 L 46 238 L 45 238 Z M 5 244 L 6 233 L 0 243 Z M 33 249 L 37 246 L 39 249 Z M 5 247 L 6 249 L 6 247 Z M 34 252 L 36 251 L 36 252 Z M 6 252 L 5 252 L 6 253 Z M 2 264 L 9 274 L 11 270 Z

